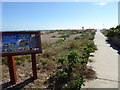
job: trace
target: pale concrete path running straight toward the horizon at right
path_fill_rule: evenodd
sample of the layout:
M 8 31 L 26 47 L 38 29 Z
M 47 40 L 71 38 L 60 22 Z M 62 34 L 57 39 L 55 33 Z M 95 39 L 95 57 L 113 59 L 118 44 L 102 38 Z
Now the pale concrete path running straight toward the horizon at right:
M 97 45 L 94 53 L 92 66 L 97 73 L 97 79 L 85 83 L 82 88 L 118 88 L 118 53 L 109 43 L 106 37 L 100 32 L 96 32 L 94 39 Z

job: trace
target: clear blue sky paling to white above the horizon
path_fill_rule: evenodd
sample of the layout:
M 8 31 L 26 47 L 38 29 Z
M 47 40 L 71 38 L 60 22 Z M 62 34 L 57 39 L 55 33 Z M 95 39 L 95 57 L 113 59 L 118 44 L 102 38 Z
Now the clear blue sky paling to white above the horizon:
M 116 27 L 117 2 L 3 2 L 3 31 Z

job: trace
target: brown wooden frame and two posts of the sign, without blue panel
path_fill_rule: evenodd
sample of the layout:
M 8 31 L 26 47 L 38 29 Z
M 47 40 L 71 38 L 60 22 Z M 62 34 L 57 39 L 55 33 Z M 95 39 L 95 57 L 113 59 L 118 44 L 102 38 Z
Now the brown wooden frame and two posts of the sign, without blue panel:
M 39 37 L 38 44 L 40 45 L 40 47 L 39 47 L 40 50 L 2 53 L 2 57 L 7 56 L 11 84 L 16 84 L 16 82 L 17 82 L 16 64 L 15 64 L 14 55 L 31 54 L 33 78 L 37 79 L 36 53 L 42 53 L 40 31 L 19 31 L 19 32 L 2 32 L 2 33 L 0 32 L 0 34 L 24 34 L 24 33 L 30 33 L 30 34 L 37 33 L 39 35 L 38 36 Z M 0 38 L 1 38 L 1 36 L 0 36 Z

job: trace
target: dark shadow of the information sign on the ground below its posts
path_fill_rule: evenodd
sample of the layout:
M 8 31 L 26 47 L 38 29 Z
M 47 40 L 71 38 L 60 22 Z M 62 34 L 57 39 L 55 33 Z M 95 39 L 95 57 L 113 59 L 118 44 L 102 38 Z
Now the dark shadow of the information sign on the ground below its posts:
M 8 88 L 9 86 L 12 86 L 12 84 L 10 82 L 4 83 L 0 86 L 2 86 L 2 89 L 22 89 L 23 87 L 25 87 L 26 85 L 28 85 L 29 83 L 33 82 L 35 79 L 33 77 L 28 78 L 27 80 L 25 80 L 24 82 L 18 83 L 13 87 Z

